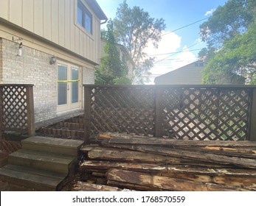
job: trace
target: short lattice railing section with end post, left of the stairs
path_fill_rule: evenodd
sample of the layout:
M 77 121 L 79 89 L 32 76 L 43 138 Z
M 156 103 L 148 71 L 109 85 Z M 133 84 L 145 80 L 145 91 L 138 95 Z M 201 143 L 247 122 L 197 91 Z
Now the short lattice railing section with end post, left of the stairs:
M 4 131 L 35 134 L 33 85 L 0 85 L 0 138 Z

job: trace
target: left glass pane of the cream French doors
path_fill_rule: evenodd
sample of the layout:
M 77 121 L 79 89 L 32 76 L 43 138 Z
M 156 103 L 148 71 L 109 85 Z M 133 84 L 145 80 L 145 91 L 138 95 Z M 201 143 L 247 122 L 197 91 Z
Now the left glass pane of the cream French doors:
M 67 67 L 65 65 L 58 65 L 58 81 L 67 79 Z M 58 82 L 58 105 L 67 103 L 67 83 Z

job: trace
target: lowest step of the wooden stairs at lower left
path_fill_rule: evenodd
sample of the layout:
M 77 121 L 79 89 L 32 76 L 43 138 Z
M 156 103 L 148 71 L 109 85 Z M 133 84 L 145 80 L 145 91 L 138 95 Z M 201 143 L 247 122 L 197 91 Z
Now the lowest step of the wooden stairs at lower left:
M 1 180 L 15 185 L 25 186 L 36 191 L 58 191 L 61 182 L 66 178 L 63 174 L 42 171 L 23 166 L 7 165 L 0 168 Z

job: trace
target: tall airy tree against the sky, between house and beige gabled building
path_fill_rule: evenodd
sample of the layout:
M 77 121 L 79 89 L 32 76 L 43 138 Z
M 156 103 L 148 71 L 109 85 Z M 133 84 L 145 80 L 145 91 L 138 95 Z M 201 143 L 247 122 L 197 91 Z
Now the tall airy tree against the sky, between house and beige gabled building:
M 139 7 L 128 7 L 124 0 L 117 8 L 113 22 L 118 42 L 125 46 L 134 61 L 134 83 L 142 83 L 153 66 L 153 58 L 149 58 L 144 49 L 149 42 L 157 48 L 165 21 L 151 18 L 148 12 Z

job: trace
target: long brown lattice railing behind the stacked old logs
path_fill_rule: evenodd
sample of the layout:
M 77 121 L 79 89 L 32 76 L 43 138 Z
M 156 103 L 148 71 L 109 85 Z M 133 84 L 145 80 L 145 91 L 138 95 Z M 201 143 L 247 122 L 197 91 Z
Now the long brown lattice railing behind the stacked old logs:
M 256 141 L 256 87 L 84 85 L 85 141 L 93 132 L 183 140 Z

